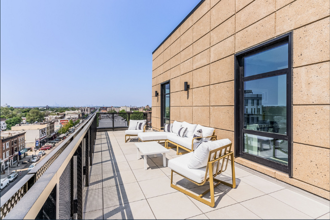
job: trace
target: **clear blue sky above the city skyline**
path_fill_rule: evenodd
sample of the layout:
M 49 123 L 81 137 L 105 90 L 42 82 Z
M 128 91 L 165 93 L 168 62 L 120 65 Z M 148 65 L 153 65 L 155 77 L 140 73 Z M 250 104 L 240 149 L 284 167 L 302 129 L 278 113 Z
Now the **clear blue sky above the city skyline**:
M 3 105 L 151 105 L 152 51 L 200 0 L 1 1 Z

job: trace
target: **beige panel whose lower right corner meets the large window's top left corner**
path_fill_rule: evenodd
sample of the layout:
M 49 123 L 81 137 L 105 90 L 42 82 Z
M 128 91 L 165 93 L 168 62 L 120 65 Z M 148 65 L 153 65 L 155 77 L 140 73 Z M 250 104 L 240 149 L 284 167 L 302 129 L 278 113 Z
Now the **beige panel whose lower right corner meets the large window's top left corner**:
M 235 36 L 230 36 L 226 40 L 211 47 L 211 62 L 222 59 L 235 53 Z

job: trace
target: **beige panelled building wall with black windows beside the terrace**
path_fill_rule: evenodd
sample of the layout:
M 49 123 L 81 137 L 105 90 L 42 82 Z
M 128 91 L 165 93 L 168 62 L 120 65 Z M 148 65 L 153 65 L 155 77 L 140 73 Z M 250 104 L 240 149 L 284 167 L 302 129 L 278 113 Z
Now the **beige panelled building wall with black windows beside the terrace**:
M 329 199 L 329 37 L 329 1 L 201 1 L 153 52 L 153 128 L 213 127 L 237 163 Z

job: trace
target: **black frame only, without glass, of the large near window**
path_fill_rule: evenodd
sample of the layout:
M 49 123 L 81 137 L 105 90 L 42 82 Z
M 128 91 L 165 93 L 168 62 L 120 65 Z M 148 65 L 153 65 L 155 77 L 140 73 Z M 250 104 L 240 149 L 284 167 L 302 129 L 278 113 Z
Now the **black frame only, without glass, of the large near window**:
M 288 43 L 288 68 L 270 71 L 258 75 L 244 77 L 243 58 L 262 51 L 269 50 L 276 46 Z M 292 177 L 292 32 L 283 34 L 275 39 L 262 43 L 250 49 L 235 54 L 235 157 L 242 157 L 261 165 L 288 173 Z M 265 136 L 259 131 L 244 129 L 244 82 L 248 80 L 262 79 L 264 77 L 279 76 L 286 74 L 286 116 L 287 133 L 277 134 L 267 132 L 267 137 L 287 140 L 288 143 L 288 164 L 281 164 L 243 152 L 243 133 Z

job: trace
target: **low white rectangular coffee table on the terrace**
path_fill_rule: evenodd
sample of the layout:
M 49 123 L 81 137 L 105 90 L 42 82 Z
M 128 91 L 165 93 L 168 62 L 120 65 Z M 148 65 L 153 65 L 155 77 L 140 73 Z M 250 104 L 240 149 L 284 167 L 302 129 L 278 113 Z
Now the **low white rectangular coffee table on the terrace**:
M 135 145 L 138 148 L 138 160 L 140 159 L 140 156 L 143 155 L 145 170 L 148 168 L 147 155 L 152 155 L 152 154 L 154 155 L 154 157 L 156 157 L 156 154 L 162 154 L 163 166 L 166 167 L 165 153 L 168 153 L 170 151 L 164 148 L 164 146 L 160 145 L 156 141 L 137 142 L 135 143 Z

